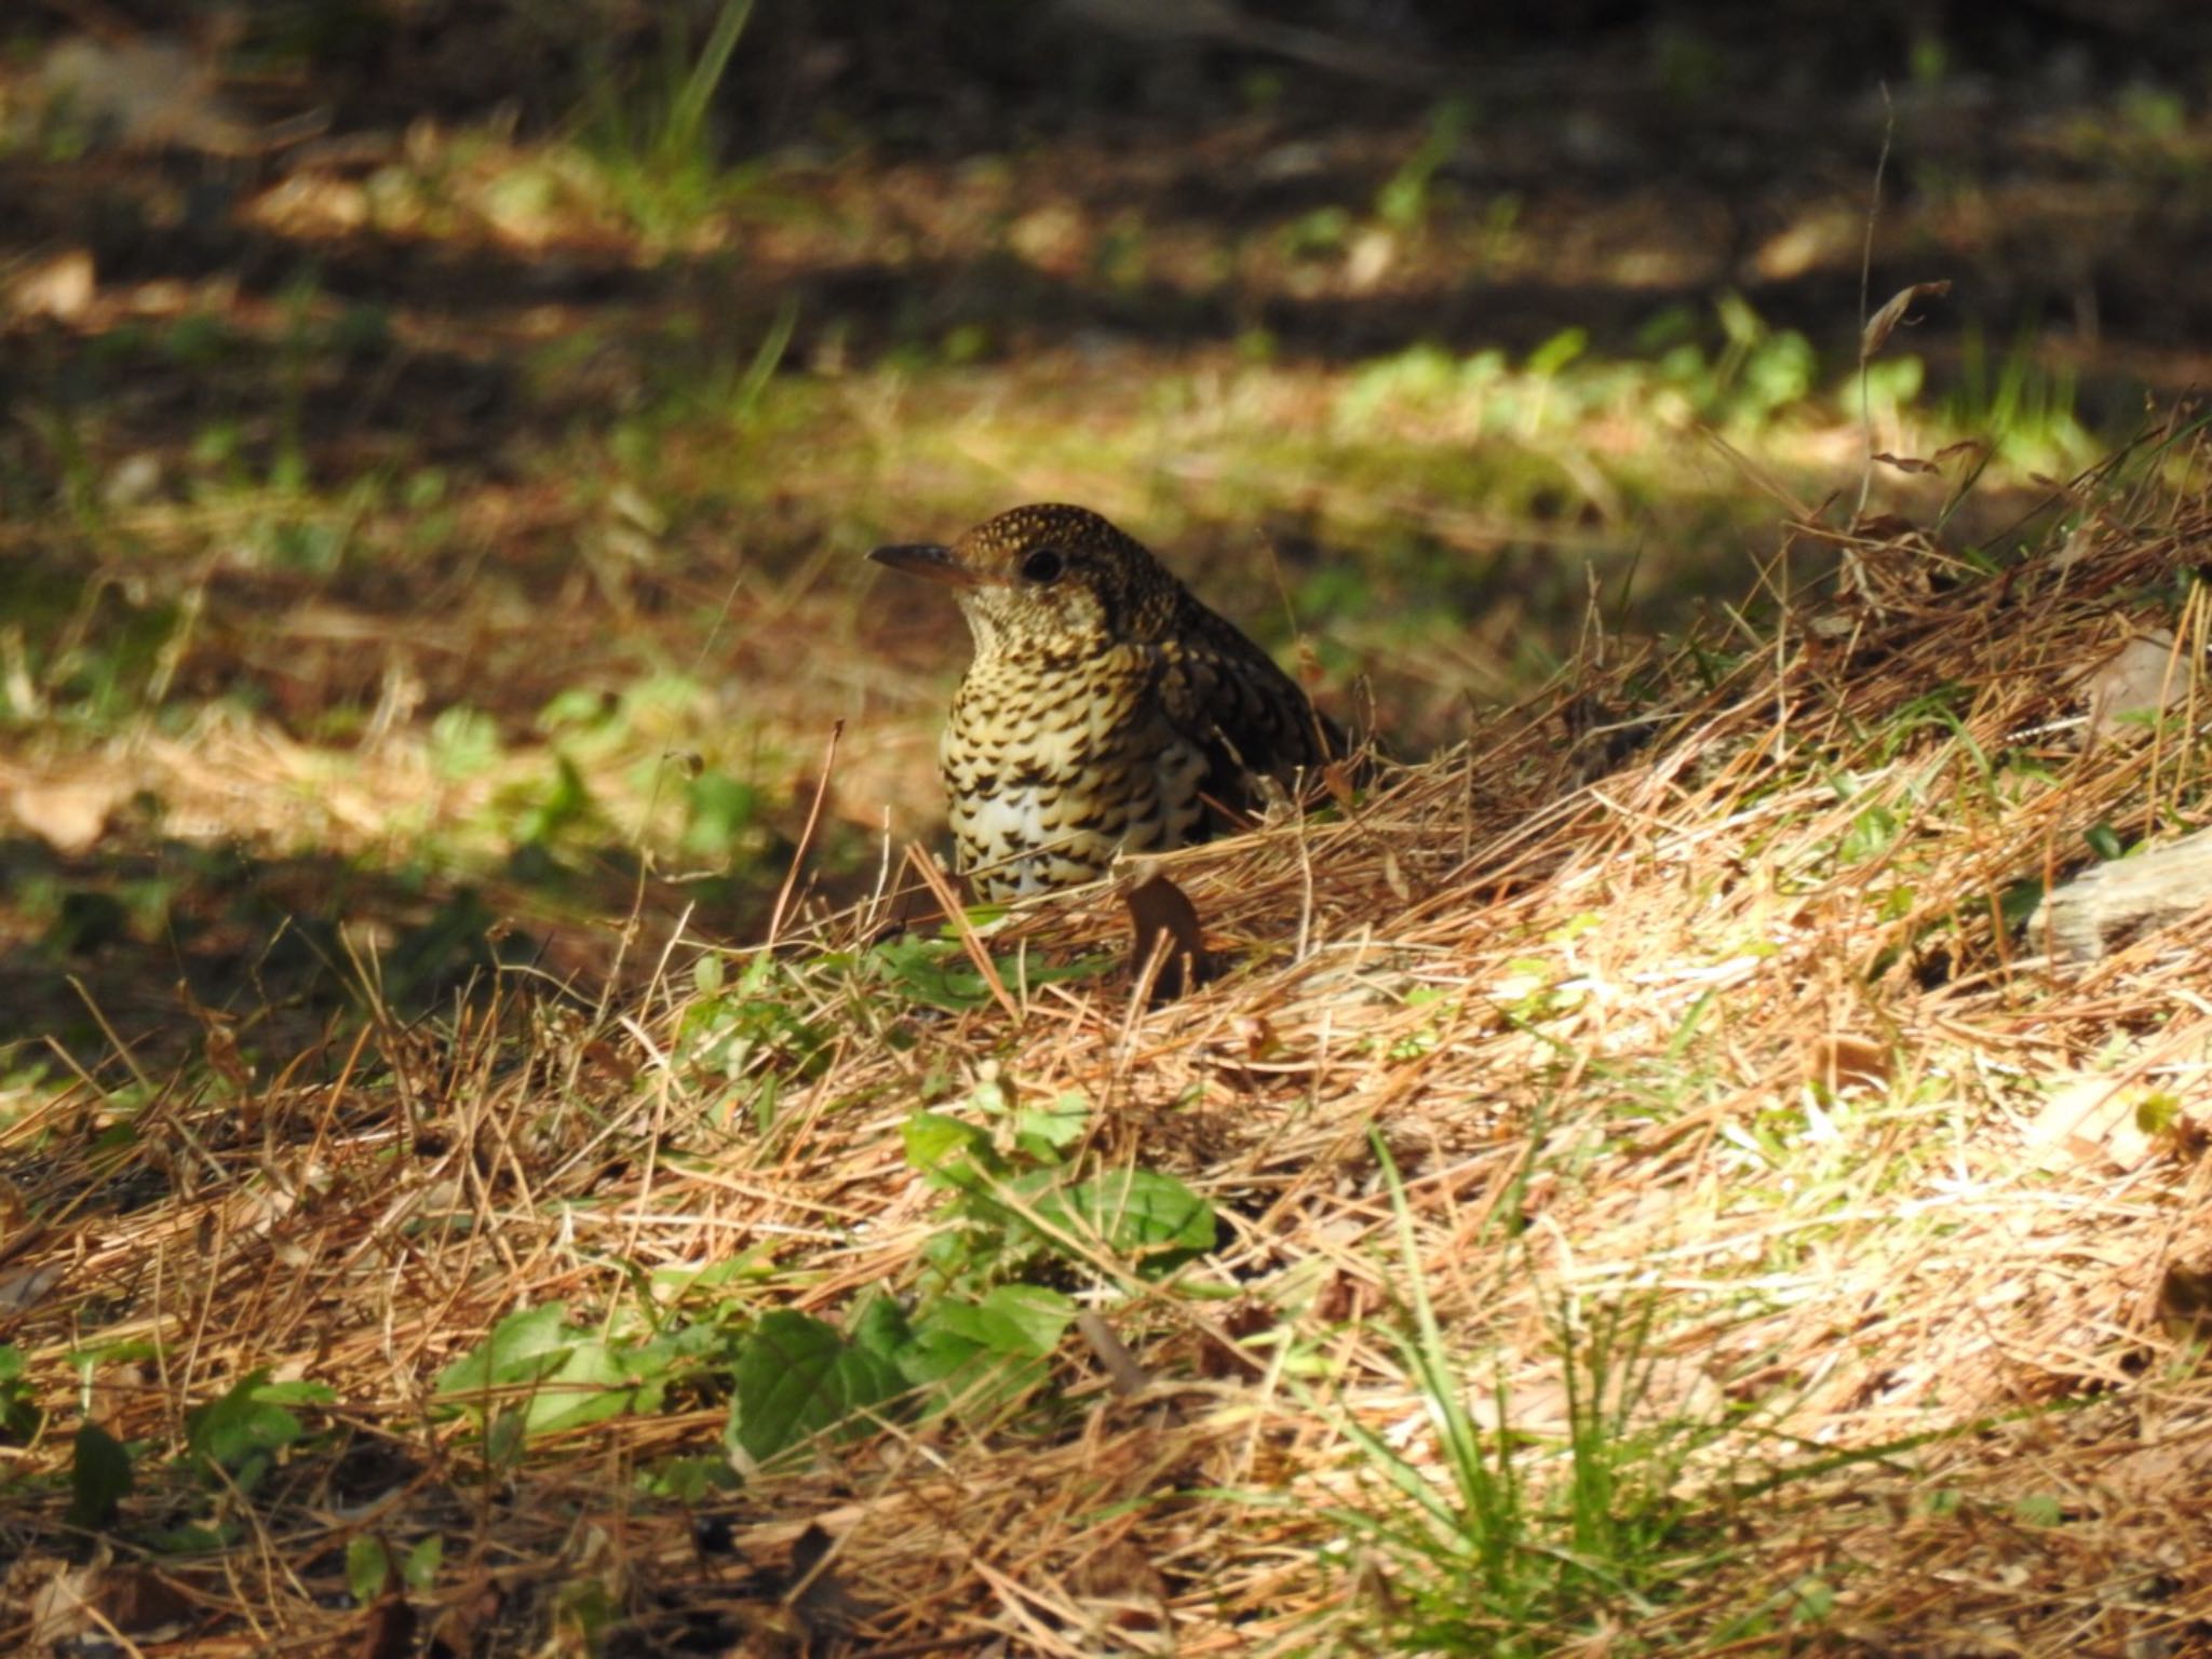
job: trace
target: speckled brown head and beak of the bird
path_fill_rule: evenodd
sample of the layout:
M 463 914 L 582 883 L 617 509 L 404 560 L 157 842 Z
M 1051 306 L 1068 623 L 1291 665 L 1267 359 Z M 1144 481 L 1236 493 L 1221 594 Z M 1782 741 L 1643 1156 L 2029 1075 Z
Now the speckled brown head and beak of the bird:
M 1139 542 L 1082 507 L 1015 507 L 951 546 L 878 546 L 869 557 L 953 588 L 984 657 L 1146 639 L 1181 593 Z

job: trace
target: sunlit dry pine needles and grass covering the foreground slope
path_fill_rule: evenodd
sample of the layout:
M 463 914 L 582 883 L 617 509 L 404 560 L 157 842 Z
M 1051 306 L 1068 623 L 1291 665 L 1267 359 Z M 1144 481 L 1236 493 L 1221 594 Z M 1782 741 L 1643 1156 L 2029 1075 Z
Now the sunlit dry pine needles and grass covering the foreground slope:
M 58 1411 L 9 1473 L 66 1469 L 77 1411 L 153 1469 L 252 1369 L 332 1385 L 327 1447 L 228 1506 L 232 1546 L 117 1546 L 106 1568 L 150 1562 L 204 1655 L 358 1644 L 343 1546 L 431 1528 L 425 1617 L 476 1608 L 478 1650 L 577 1646 L 584 1584 L 622 1652 L 1376 1650 L 1402 1562 L 1343 1524 L 1385 1504 L 1347 1429 L 1433 1467 L 1394 1336 L 1418 1272 L 1533 1491 L 1564 1478 L 1562 1332 L 1597 1310 L 1650 1318 L 1624 1422 L 1697 1429 L 1663 1473 L 1699 1575 L 1524 1650 L 2197 1650 L 2212 1380 L 2172 1272 L 2212 1261 L 2212 929 L 2059 978 L 1997 914 L 2093 825 L 2132 841 L 2199 810 L 2194 739 L 2081 754 L 2075 721 L 2084 675 L 2208 549 L 2203 500 L 2117 489 L 1995 577 L 1902 526 L 1856 538 L 1858 593 L 1818 615 L 1586 666 L 1586 695 L 1659 721 L 1595 783 L 1551 710 L 1513 710 L 1347 821 L 1161 860 L 1234 964 L 1181 1000 L 1015 980 L 1013 1015 L 933 1013 L 801 971 L 792 995 L 841 1035 L 765 1135 L 668 1060 L 675 945 L 613 1004 L 509 980 L 445 1031 L 155 1088 L 131 1137 L 102 1137 L 124 1113 L 86 1084 L 7 1133 L 0 1338 Z M 878 920 L 812 918 L 779 949 L 803 964 Z M 1121 936 L 1115 896 L 1086 894 L 989 949 Z M 984 1077 L 1079 1095 L 1095 1161 L 1181 1175 L 1228 1219 L 1190 1274 L 1228 1301 L 1102 1272 L 1106 1336 L 1055 1371 L 1068 1433 L 947 1416 L 825 1447 L 719 1502 L 719 1553 L 630 1484 L 717 1455 L 714 1402 L 504 1473 L 434 1413 L 431 1378 L 504 1314 L 591 1318 L 659 1267 L 759 1252 L 741 1294 L 830 1318 L 911 1283 L 940 1194 L 900 1126 Z M 2046 1099 L 2084 1079 L 2163 1091 L 2179 1121 L 2053 1128 Z M 1369 1130 L 1405 1172 L 1416 1263 Z M 77 1400 L 69 1356 L 126 1340 L 155 1358 L 91 1367 Z M 1102 1343 L 1148 1387 L 1115 1387 Z M 356 1509 L 347 1471 L 378 1458 Z M 135 1522 L 161 1491 L 126 1500 Z M 84 1559 L 64 1504 L 0 1515 L 0 1646 Z

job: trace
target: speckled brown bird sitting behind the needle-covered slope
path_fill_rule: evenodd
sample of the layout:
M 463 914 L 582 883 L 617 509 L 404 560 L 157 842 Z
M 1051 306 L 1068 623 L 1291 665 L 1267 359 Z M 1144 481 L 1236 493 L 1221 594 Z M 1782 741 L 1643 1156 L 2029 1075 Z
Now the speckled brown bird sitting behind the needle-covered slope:
M 949 546 L 869 557 L 945 584 L 975 655 L 938 748 L 956 867 L 987 902 L 1097 880 L 1298 790 L 1343 730 L 1135 538 L 1084 507 L 1015 507 Z

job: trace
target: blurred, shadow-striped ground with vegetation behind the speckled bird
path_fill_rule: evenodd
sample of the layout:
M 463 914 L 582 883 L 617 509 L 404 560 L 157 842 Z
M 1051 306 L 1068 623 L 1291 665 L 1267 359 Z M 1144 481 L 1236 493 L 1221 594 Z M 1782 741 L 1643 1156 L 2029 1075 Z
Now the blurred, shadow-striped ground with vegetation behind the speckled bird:
M 11 7 L 4 1088 L 757 938 L 818 790 L 867 891 L 967 646 L 858 555 L 1022 500 L 1407 757 L 1863 478 L 2002 562 L 2205 378 L 2208 71 L 2157 0 Z

